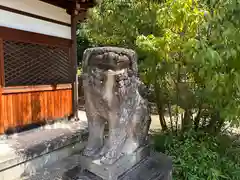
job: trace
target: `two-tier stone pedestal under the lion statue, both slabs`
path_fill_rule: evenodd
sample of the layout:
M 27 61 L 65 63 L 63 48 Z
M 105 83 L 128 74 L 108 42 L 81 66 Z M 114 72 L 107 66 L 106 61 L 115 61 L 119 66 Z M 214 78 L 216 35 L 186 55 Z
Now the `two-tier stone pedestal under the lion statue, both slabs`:
M 171 180 L 171 159 L 148 147 L 119 159 L 111 166 L 83 157 L 77 180 Z

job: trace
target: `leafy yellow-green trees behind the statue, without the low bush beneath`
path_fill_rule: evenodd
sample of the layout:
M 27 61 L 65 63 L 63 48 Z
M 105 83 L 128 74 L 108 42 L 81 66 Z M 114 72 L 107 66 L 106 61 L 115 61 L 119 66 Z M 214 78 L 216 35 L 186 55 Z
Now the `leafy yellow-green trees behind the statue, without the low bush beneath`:
M 239 15 L 239 0 L 105 0 L 83 32 L 93 46 L 138 52 L 164 130 L 167 112 L 172 131 L 218 133 L 239 123 Z

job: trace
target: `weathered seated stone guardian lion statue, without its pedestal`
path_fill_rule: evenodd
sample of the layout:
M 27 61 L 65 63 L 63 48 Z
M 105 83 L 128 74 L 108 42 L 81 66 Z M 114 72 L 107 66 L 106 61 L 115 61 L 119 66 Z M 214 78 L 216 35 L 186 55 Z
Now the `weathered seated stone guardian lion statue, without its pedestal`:
M 83 87 L 89 138 L 84 156 L 113 164 L 147 142 L 148 102 L 139 92 L 136 53 L 116 47 L 90 48 L 83 57 Z M 108 136 L 104 129 L 108 124 Z

